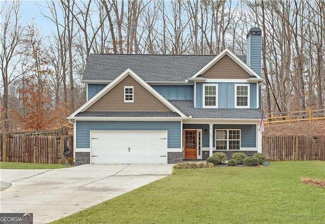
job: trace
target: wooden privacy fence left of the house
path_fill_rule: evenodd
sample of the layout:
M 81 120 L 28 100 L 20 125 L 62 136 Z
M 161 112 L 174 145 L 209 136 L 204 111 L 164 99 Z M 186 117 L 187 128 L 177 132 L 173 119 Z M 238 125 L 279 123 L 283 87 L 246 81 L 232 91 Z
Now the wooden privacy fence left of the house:
M 73 136 L 3 135 L 2 161 L 44 164 L 64 164 L 64 148 L 73 155 Z

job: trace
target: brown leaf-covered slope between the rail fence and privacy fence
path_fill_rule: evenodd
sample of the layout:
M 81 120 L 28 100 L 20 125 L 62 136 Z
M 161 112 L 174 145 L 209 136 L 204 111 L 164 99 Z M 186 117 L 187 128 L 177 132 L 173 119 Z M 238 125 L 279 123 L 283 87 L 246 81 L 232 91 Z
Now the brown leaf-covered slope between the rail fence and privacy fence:
M 265 125 L 263 135 L 325 135 L 325 119 Z

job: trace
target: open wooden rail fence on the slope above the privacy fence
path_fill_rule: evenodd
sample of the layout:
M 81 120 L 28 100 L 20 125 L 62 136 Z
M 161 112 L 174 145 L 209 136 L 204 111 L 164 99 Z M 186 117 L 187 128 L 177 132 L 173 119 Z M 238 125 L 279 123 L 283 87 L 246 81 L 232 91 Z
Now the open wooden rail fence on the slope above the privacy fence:
M 325 119 L 325 109 L 321 110 L 302 110 L 302 111 L 291 111 L 291 112 L 280 112 L 280 113 L 269 113 L 267 114 L 266 124 L 271 123 L 282 123 L 292 121 L 303 121 Z

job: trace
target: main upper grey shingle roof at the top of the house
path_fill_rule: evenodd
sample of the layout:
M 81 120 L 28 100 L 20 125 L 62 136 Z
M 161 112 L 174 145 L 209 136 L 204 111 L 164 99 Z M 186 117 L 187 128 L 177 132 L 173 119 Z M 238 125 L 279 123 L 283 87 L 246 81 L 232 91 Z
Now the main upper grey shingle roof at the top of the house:
M 90 54 L 82 80 L 114 80 L 131 69 L 145 81 L 184 81 L 216 55 Z M 246 62 L 245 55 L 238 57 Z

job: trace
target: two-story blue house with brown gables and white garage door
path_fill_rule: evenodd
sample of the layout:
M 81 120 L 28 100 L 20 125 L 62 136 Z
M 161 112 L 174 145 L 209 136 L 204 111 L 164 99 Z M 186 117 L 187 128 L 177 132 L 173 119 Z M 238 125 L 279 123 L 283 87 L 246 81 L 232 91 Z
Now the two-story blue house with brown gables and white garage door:
M 163 164 L 262 152 L 261 35 L 246 56 L 91 54 L 74 123 L 76 164 Z

